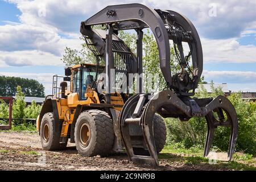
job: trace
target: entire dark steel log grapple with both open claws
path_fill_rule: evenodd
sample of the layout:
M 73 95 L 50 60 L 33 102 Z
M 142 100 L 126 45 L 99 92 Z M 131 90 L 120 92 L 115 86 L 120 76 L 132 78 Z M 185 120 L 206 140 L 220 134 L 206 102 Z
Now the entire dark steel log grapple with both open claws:
M 142 97 L 144 97 L 143 100 L 140 99 Z M 191 102 L 193 104 L 190 104 Z M 138 108 L 141 114 L 134 117 L 134 111 L 138 113 Z M 200 108 L 200 113 L 198 108 Z M 193 110 L 197 110 L 197 113 L 194 113 Z M 171 90 L 164 90 L 154 95 L 137 94 L 126 102 L 121 111 L 120 130 L 122 139 L 130 160 L 133 160 L 135 163 L 159 165 L 158 154 L 155 149 L 154 126 L 152 122 L 155 113 L 162 115 L 162 117 L 189 119 L 195 116 L 195 114 L 198 117 L 205 117 L 208 126 L 204 151 L 205 157 L 208 156 L 210 152 L 216 127 L 230 127 L 231 134 L 228 158 L 229 160 L 232 159 L 238 135 L 238 122 L 236 110 L 228 98 L 218 96 L 214 99 L 192 99 L 190 97 L 176 96 Z M 130 124 L 139 125 L 142 128 L 143 138 L 146 142 L 147 150 L 150 154 L 149 156 L 138 156 L 134 154 L 134 146 L 131 144 L 128 128 Z

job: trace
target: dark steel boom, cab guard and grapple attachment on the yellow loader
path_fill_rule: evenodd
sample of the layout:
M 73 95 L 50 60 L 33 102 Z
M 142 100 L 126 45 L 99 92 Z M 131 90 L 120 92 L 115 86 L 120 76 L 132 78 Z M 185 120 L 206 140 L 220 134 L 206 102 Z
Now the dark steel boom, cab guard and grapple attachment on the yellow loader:
M 94 30 L 95 25 L 105 25 L 106 31 Z M 159 50 L 159 65 L 166 81 L 167 90 L 158 93 L 142 93 L 142 78 L 138 78 L 138 94 L 131 96 L 117 114 L 119 128 L 130 160 L 137 163 L 158 165 L 158 155 L 155 150 L 154 125 L 152 118 L 155 113 L 162 117 L 179 118 L 188 121 L 192 117 L 205 117 L 208 134 L 205 142 L 204 156 L 210 152 L 214 129 L 217 126 L 230 127 L 230 142 L 228 159 L 232 158 L 238 135 L 236 110 L 224 96 L 216 98 L 191 98 L 199 83 L 203 71 L 203 52 L 199 35 L 192 22 L 184 15 L 171 10 L 151 9 L 141 4 L 108 6 L 89 19 L 81 22 L 80 32 L 85 37 L 86 44 L 94 53 L 97 65 L 105 61 L 107 80 L 106 103 L 110 104 L 110 69 L 118 73 L 129 74 L 143 72 L 142 69 L 142 39 L 143 29 L 150 28 L 155 36 Z M 135 30 L 137 32 L 137 56 L 118 37 L 120 30 Z M 181 71 L 172 75 L 170 67 L 170 40 L 173 42 L 175 54 Z M 182 43 L 189 46 L 188 55 L 184 55 Z M 189 66 L 189 60 L 192 67 Z M 117 80 L 117 79 L 116 79 Z M 127 85 L 127 90 L 128 85 Z M 131 129 L 138 126 L 143 132 L 146 142 L 146 153 L 135 154 Z

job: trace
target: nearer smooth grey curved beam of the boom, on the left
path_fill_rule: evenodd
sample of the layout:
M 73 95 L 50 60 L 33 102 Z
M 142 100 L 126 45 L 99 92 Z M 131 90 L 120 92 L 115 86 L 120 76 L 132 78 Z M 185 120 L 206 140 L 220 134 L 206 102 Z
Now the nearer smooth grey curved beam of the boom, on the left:
M 119 23 L 119 22 L 123 22 Z M 86 26 L 96 24 L 119 23 L 121 30 L 149 27 L 156 38 L 159 48 L 160 68 L 167 84 L 171 85 L 170 43 L 162 18 L 155 10 L 141 4 L 107 6 L 81 23 L 80 31 Z M 114 27 L 114 30 L 118 27 Z M 120 29 L 119 29 L 120 30 Z

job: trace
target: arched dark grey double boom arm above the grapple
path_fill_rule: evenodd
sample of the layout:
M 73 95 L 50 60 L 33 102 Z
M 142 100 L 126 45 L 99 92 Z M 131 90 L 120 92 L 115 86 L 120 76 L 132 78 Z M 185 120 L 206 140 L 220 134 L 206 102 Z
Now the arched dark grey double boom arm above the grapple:
M 88 35 L 90 26 L 96 24 L 110 24 L 114 31 L 142 30 L 150 28 L 155 36 L 159 49 L 160 69 L 170 89 L 177 93 L 186 94 L 197 87 L 203 71 L 203 53 L 199 35 L 191 21 L 185 16 L 170 10 L 154 10 L 141 4 L 107 6 L 89 19 L 81 22 L 81 34 Z M 170 67 L 170 43 L 174 40 L 179 47 L 180 61 L 183 66 L 185 57 L 182 42 L 189 43 L 193 63 L 191 80 L 172 76 Z M 179 73 L 179 75 L 181 75 Z

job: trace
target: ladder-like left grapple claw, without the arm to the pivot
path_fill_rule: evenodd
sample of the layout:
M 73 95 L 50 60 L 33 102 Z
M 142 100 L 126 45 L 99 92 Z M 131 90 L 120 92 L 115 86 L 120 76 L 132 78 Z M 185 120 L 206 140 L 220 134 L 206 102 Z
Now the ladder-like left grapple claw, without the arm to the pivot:
M 148 102 L 148 96 L 149 94 L 136 94 L 126 101 L 120 114 L 120 130 L 130 160 L 135 163 L 159 165 L 152 122 L 145 123 L 141 114 L 142 107 Z M 147 148 L 149 155 L 136 154 L 134 148 Z

